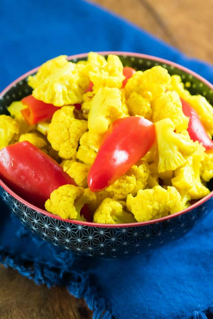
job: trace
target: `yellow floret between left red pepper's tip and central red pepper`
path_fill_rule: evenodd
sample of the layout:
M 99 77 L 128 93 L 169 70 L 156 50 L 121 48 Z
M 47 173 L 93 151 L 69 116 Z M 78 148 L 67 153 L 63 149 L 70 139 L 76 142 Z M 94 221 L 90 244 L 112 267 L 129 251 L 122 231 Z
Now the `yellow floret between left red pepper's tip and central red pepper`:
M 89 171 L 90 165 L 83 164 L 80 162 L 76 162 L 75 160 L 64 160 L 61 163 L 64 171 L 70 175 L 77 186 L 81 186 L 83 188 L 87 187 L 87 174 Z

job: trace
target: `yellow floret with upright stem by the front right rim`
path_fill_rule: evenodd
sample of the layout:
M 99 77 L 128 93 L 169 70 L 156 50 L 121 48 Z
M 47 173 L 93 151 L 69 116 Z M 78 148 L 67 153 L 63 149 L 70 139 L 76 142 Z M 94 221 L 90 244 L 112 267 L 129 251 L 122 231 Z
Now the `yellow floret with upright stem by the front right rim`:
M 205 157 L 205 148 L 198 145 L 197 150 L 192 156 L 189 156 L 186 163 L 175 170 L 175 177 L 171 182 L 179 192 L 184 192 L 191 199 L 199 199 L 209 194 L 209 189 L 206 188 L 200 179 L 201 161 Z

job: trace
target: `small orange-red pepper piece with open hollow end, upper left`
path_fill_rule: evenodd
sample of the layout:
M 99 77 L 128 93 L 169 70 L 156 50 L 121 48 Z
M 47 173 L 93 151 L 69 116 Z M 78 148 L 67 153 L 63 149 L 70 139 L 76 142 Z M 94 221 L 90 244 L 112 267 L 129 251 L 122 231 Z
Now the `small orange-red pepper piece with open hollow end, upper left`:
M 24 119 L 31 125 L 51 120 L 53 114 L 60 109 L 60 107 L 36 100 L 33 95 L 26 96 L 21 102 L 27 106 L 27 108 L 21 110 L 21 113 Z

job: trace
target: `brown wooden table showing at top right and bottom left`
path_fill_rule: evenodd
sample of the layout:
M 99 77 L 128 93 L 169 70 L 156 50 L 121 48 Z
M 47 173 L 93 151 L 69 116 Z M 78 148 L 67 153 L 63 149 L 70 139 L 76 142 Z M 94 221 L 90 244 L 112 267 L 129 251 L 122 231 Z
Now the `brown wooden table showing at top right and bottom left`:
M 213 0 L 95 0 L 188 56 L 213 64 Z M 37 286 L 0 265 L 0 319 L 89 319 L 66 288 Z

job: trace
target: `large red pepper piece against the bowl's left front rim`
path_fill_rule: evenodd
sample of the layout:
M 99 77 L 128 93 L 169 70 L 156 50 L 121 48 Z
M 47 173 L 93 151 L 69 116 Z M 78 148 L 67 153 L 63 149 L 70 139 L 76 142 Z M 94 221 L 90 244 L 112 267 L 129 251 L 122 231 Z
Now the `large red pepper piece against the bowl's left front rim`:
M 53 190 L 76 185 L 54 159 L 28 141 L 0 150 L 0 178 L 20 197 L 42 209 Z

